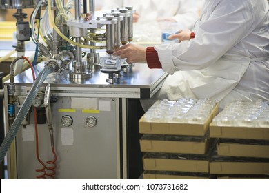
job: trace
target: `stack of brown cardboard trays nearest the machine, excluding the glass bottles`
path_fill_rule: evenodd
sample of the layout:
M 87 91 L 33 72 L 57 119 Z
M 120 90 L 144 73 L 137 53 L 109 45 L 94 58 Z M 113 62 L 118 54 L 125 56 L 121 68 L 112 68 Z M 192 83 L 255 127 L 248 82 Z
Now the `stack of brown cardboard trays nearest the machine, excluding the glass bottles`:
M 209 179 L 209 125 L 218 106 L 203 123 L 139 120 L 144 179 Z

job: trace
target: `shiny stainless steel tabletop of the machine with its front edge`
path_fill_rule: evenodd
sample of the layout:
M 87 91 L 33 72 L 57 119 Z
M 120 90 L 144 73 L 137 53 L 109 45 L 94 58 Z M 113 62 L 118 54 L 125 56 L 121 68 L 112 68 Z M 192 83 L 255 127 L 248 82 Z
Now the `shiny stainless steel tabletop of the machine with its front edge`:
M 43 70 L 44 63 L 35 66 L 36 76 Z M 90 94 L 88 96 L 117 96 L 123 98 L 150 98 L 152 97 L 167 77 L 161 69 L 150 69 L 146 63 L 135 63 L 126 72 L 121 72 L 121 77 L 113 84 L 106 82 L 108 74 L 100 70 L 92 72 L 92 77 L 87 81 L 74 83 L 68 79 L 68 71 L 63 74 L 55 72 L 50 74 L 44 83 L 50 83 L 52 90 L 63 92 L 79 92 Z M 5 83 L 7 84 L 8 81 Z M 32 72 L 26 70 L 14 79 L 17 86 L 32 84 Z M 105 94 L 105 95 L 103 95 Z

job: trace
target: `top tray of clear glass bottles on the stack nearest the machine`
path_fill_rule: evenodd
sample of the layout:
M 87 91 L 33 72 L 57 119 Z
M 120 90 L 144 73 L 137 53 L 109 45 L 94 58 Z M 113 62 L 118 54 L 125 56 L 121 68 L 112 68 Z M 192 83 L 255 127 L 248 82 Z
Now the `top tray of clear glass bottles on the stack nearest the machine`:
M 217 101 L 210 99 L 160 100 L 139 120 L 139 132 L 204 136 L 217 112 Z

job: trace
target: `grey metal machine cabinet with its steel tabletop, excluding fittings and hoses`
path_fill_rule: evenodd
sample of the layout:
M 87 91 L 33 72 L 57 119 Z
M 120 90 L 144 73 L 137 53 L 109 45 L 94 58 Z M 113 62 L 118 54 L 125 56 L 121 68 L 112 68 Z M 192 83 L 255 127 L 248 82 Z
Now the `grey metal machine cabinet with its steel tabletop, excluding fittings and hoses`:
M 41 71 L 41 68 L 43 68 L 42 63 L 38 65 L 37 71 Z M 15 77 L 15 95 L 23 97 L 30 90 L 32 80 L 28 76 L 29 71 Z M 41 85 L 40 92 L 44 92 L 47 83 L 50 83 L 52 96 L 58 99 L 57 102 L 52 103 L 54 143 L 59 156 L 56 178 L 138 179 L 143 172 L 138 130 L 138 121 L 143 110 L 139 107 L 139 99 L 151 98 L 161 88 L 167 74 L 162 70 L 150 70 L 145 63 L 137 63 L 128 72 L 122 74 L 118 83 L 109 84 L 103 79 L 104 76 L 106 74 L 96 71 L 89 81 L 77 84 L 68 81 L 68 74 L 61 76 L 51 74 Z M 8 83 L 4 86 L 5 103 L 7 103 Z M 77 103 L 78 99 L 90 100 L 97 105 L 92 109 L 75 108 L 75 105 L 72 107 L 72 103 Z M 100 110 L 100 101 L 101 103 L 107 101 L 110 104 L 110 112 L 104 111 L 103 108 Z M 5 108 L 8 112 L 7 106 Z M 23 139 L 25 135 L 23 132 L 27 134 L 26 130 L 33 131 L 33 112 L 30 114 L 32 118 L 30 124 L 24 129 L 21 127 L 14 151 L 10 148 L 8 154 L 8 174 L 15 179 L 33 179 L 38 174 L 35 172 L 39 165 L 34 157 L 34 139 Z M 64 115 L 72 116 L 71 127 L 61 124 L 61 117 Z M 88 127 L 85 122 L 87 116 L 94 116 L 97 125 Z M 6 123 L 6 130 L 8 130 L 7 113 Z M 48 160 L 52 156 L 49 149 L 48 125 L 38 125 L 38 127 L 40 154 Z M 61 132 L 64 128 L 69 130 L 72 128 L 74 144 L 62 144 Z M 30 135 L 33 136 L 33 133 L 30 132 Z

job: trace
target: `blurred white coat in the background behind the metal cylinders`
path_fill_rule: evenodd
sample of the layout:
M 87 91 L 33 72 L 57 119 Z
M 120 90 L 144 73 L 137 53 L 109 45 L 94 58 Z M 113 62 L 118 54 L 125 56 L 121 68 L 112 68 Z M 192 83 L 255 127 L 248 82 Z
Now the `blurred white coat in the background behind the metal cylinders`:
M 138 23 L 153 23 L 157 17 L 172 18 L 180 28 L 193 28 L 198 19 L 195 0 L 104 0 L 102 10 L 132 6 L 139 14 Z

